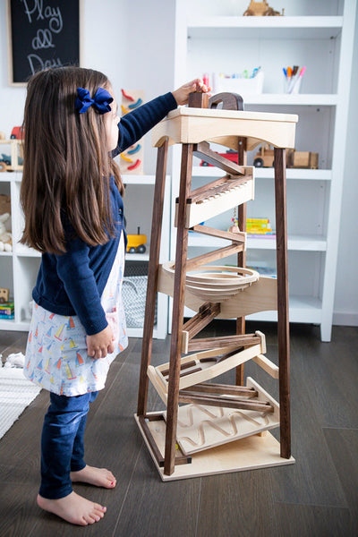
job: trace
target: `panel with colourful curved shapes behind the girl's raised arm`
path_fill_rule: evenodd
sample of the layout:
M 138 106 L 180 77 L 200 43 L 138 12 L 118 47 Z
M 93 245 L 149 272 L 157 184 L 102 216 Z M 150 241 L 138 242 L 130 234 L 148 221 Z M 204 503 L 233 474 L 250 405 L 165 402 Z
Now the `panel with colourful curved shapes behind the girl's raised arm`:
M 144 102 L 144 91 L 142 90 L 122 90 L 122 115 L 132 112 Z M 119 166 L 123 174 L 143 173 L 143 143 L 137 141 L 131 148 L 126 149 L 120 155 Z

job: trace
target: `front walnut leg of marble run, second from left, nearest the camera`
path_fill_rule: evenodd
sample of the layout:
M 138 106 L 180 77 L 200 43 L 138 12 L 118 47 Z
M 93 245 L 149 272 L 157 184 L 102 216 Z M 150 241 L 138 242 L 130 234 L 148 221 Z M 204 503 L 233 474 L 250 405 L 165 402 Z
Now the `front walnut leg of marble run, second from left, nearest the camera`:
M 172 337 L 166 405 L 166 452 L 164 473 L 171 475 L 175 470 L 175 437 L 179 405 L 180 359 L 182 355 L 183 309 L 185 271 L 188 257 L 188 229 L 184 227 L 186 200 L 192 186 L 192 144 L 183 144 L 180 176 L 179 205 L 175 251 L 175 281 L 173 296 Z

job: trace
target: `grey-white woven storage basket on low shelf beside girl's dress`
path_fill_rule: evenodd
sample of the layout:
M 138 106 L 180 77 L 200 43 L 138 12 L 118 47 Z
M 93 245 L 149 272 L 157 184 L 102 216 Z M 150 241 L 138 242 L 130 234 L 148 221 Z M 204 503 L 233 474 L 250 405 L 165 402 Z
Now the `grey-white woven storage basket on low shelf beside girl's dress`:
M 128 276 L 123 281 L 125 320 L 128 328 L 142 328 L 147 296 L 147 276 Z M 157 303 L 154 324 L 157 323 Z

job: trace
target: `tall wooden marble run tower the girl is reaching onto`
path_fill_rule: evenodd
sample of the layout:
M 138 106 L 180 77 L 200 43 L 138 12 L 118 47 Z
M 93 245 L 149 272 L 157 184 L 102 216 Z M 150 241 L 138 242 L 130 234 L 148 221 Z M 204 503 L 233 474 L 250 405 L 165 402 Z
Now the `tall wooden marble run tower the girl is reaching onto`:
M 244 112 L 234 94 L 208 98 L 192 94 L 153 130 L 158 147 L 150 238 L 148 292 L 141 353 L 136 421 L 161 478 L 166 480 L 294 463 L 291 456 L 289 333 L 286 224 L 286 148 L 294 147 L 296 115 Z M 223 107 L 217 108 L 222 102 Z M 212 149 L 209 142 L 238 151 L 238 163 Z M 246 151 L 261 141 L 274 146 L 277 226 L 277 279 L 245 268 L 246 203 L 254 198 L 252 166 Z M 168 146 L 182 145 L 179 196 L 175 203 L 175 260 L 159 264 Z M 192 157 L 226 176 L 192 190 Z M 223 231 L 202 222 L 237 209 L 238 226 Z M 226 245 L 187 259 L 188 234 L 195 231 Z M 228 244 L 227 244 L 228 243 Z M 217 264 L 237 256 L 237 267 Z M 157 292 L 173 297 L 169 361 L 151 365 Z M 184 305 L 195 312 L 183 321 Z M 278 367 L 265 356 L 265 336 L 245 333 L 245 316 L 277 310 Z M 236 333 L 200 337 L 214 319 L 236 318 Z M 243 364 L 252 360 L 278 379 L 279 405 L 251 378 Z M 234 371 L 235 384 L 214 381 Z M 166 405 L 148 411 L 149 382 Z M 280 428 L 280 442 L 268 430 Z

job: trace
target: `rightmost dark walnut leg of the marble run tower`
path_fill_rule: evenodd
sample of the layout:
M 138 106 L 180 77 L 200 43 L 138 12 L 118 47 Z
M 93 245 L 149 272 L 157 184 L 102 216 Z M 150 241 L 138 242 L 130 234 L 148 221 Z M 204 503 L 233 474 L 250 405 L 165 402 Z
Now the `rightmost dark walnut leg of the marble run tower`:
M 288 320 L 286 149 L 275 148 L 275 204 L 277 241 L 277 337 L 281 456 L 291 456 L 290 342 Z

